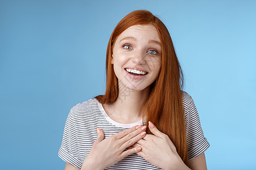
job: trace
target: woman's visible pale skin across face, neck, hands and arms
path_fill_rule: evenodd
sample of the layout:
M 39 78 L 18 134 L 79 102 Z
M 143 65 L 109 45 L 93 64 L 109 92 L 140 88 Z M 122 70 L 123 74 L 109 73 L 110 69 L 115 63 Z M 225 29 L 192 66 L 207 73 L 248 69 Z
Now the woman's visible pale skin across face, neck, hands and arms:
M 111 63 L 114 65 L 119 87 L 129 89 L 130 95 L 123 97 L 119 94 L 114 103 L 103 105 L 114 121 L 129 124 L 142 119 L 143 103 L 150 92 L 150 84 L 155 81 L 160 70 L 162 50 L 158 42 L 158 31 L 151 24 L 133 25 L 118 36 Z M 148 74 L 144 79 L 134 81 L 127 78 L 125 68 L 129 66 L 142 68 Z M 109 106 L 115 108 L 114 112 L 108 112 Z M 168 135 L 159 131 L 151 122 L 149 125 L 152 134 L 144 134 L 142 126 L 134 126 L 105 139 L 104 132 L 97 129 L 98 138 L 81 169 L 104 169 L 133 153 L 162 169 L 207 169 L 204 154 L 189 160 L 187 167 Z M 125 148 L 129 149 L 123 151 Z M 65 169 L 79 168 L 66 163 Z

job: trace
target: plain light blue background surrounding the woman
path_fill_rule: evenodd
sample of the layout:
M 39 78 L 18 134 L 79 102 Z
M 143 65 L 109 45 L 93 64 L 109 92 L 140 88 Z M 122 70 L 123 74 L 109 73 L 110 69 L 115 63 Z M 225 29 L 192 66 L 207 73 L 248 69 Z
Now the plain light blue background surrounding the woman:
M 208 169 L 256 169 L 256 1 L 0 1 L 2 169 L 64 169 L 73 105 L 104 94 L 115 25 L 166 24 L 210 148 Z

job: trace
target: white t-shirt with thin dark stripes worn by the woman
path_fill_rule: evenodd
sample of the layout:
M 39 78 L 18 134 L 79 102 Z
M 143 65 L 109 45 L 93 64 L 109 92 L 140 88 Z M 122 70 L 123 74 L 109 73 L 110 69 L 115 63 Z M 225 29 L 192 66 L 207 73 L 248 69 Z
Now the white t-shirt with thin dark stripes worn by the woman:
M 203 154 L 209 147 L 201 129 L 199 115 L 191 96 L 182 93 L 185 128 L 187 132 L 188 159 Z M 58 155 L 65 162 L 81 168 L 98 135 L 96 128 L 104 131 L 105 138 L 135 125 L 142 125 L 142 120 L 133 124 L 120 124 L 112 120 L 104 111 L 102 104 L 95 98 L 75 105 L 68 114 L 63 140 Z M 148 163 L 141 156 L 131 154 L 105 169 L 160 169 Z

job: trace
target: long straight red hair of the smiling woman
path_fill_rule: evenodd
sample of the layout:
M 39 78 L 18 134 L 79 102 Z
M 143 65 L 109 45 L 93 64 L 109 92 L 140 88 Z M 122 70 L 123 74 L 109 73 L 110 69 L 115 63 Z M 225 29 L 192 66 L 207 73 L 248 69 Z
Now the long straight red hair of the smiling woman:
M 158 78 L 150 85 L 143 108 L 143 122 L 148 126 L 151 121 L 167 134 L 174 143 L 177 153 L 188 164 L 187 140 L 184 122 L 184 110 L 181 99 L 183 74 L 177 59 L 170 33 L 166 26 L 150 11 L 137 10 L 126 15 L 114 28 L 106 52 L 106 92 L 95 98 L 101 103 L 113 103 L 118 97 L 118 79 L 111 61 L 113 46 L 117 37 L 127 28 L 136 24 L 152 24 L 158 30 L 162 44 L 162 63 Z M 147 129 L 147 133 L 151 133 Z

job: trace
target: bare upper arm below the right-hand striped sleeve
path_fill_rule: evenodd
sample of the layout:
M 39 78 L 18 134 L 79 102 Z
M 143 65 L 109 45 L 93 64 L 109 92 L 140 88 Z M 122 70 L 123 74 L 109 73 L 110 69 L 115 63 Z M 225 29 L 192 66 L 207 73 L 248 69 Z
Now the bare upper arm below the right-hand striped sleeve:
M 207 170 L 204 153 L 188 160 L 188 167 L 193 170 Z

